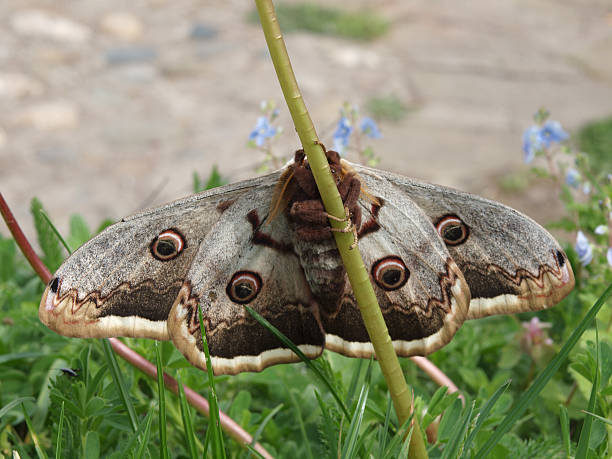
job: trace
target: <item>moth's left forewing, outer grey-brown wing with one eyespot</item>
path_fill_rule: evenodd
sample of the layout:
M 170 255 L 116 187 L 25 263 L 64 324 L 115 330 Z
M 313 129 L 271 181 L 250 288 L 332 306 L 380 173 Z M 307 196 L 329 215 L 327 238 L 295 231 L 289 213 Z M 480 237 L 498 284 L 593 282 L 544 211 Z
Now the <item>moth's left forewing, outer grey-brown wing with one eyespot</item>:
M 272 190 L 278 175 L 205 191 L 105 229 L 57 270 L 43 294 L 40 320 L 65 336 L 168 339 L 170 308 L 223 207 L 254 190 Z M 175 258 L 159 260 L 152 243 L 164 232 L 182 246 Z

